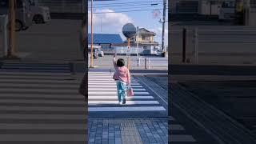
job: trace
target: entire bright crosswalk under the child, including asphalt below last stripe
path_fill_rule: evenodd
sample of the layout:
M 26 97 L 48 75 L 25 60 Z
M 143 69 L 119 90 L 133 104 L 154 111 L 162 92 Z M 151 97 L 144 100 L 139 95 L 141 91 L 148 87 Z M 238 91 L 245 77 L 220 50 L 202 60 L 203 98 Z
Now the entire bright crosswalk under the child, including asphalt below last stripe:
M 161 117 L 166 108 L 155 98 L 154 93 L 135 78 L 131 79 L 134 96 L 126 97 L 126 105 L 118 104 L 116 82 L 113 73 L 89 71 L 88 105 L 92 117 Z M 106 114 L 104 114 L 106 112 Z M 126 113 L 124 113 L 126 112 Z M 97 114 L 98 113 L 98 114 Z

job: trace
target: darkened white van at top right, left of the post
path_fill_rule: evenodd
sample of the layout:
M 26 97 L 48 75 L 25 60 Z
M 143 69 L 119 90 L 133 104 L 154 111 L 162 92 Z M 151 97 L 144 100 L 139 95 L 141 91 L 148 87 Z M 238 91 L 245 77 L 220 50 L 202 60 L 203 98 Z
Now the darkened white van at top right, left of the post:
M 233 20 L 235 16 L 235 1 L 226 1 L 222 2 L 222 6 L 220 7 L 218 20 Z

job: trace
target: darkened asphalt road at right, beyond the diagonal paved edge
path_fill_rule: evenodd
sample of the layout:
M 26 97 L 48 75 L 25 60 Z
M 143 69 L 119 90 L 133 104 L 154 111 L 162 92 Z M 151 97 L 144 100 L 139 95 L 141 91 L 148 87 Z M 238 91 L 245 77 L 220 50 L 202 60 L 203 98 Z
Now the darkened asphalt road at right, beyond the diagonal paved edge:
M 256 138 L 254 66 L 174 65 L 170 70 L 175 81 L 186 90 L 234 118 Z

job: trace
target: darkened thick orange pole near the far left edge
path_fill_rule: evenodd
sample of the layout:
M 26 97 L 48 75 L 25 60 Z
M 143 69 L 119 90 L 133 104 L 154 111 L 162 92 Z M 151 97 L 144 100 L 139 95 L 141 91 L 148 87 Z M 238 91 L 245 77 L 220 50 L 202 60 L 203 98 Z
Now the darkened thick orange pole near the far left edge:
M 16 38 L 15 38 L 15 3 L 16 0 L 9 1 L 9 23 L 10 23 L 10 46 L 7 50 L 6 58 L 17 58 L 14 55 L 14 50 L 16 46 Z

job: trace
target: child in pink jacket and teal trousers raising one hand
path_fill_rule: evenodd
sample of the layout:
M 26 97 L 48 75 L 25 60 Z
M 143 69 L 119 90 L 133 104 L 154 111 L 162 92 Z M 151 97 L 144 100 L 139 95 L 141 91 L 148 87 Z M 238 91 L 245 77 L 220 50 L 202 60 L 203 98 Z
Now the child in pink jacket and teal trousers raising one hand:
M 117 82 L 118 88 L 118 102 L 119 104 L 126 104 L 126 85 L 130 86 L 130 71 L 125 66 L 125 61 L 119 58 L 118 61 L 113 58 L 114 65 L 114 80 Z

